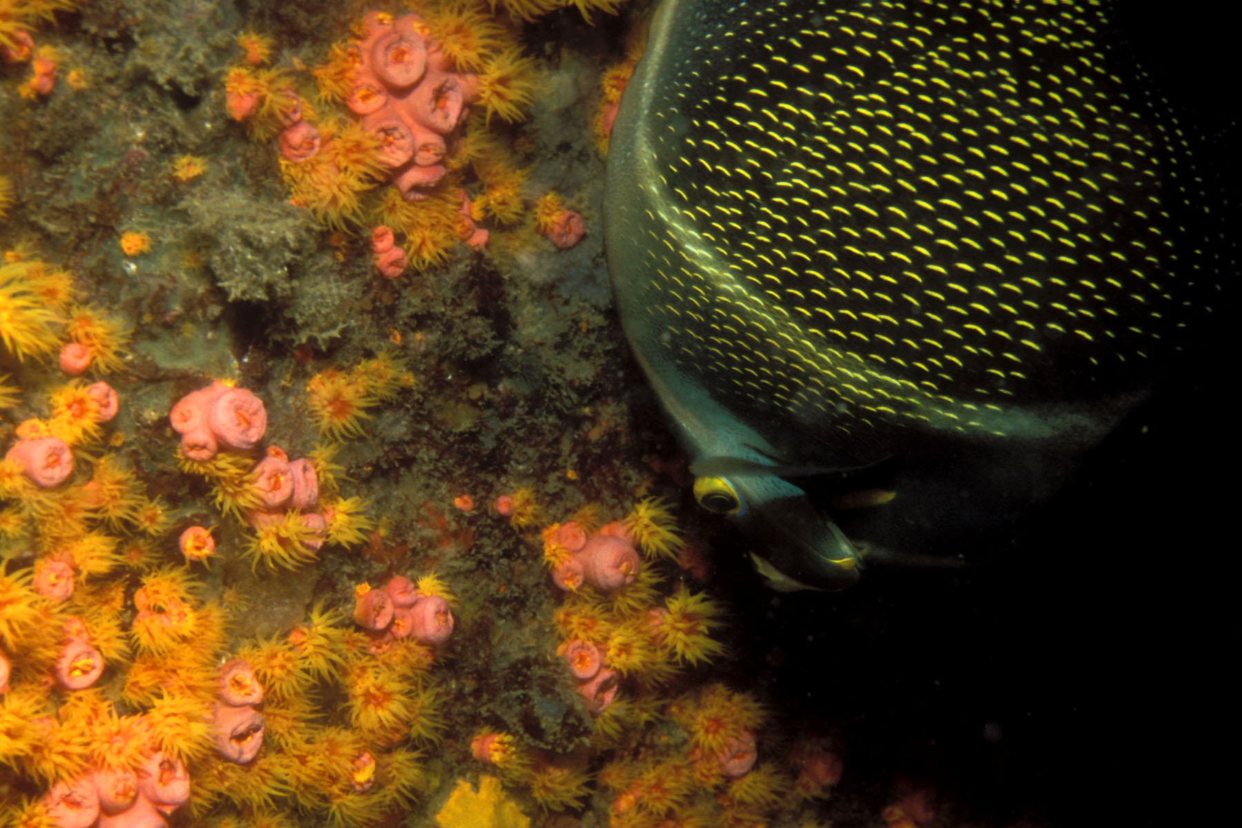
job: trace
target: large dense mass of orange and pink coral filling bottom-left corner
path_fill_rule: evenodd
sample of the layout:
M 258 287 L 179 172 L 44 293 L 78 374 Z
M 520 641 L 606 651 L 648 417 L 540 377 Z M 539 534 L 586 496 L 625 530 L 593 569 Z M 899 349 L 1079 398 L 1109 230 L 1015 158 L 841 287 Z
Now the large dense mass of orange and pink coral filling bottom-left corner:
M 76 389 L 48 422 L 94 410 Z M 430 650 L 378 644 L 322 608 L 286 637 L 231 642 L 230 610 L 160 562 L 175 536 L 101 451 L 117 437 L 108 427 L 78 432 L 84 462 L 56 485 L 22 484 L 7 461 L 0 474 L 14 559 L 0 570 L 0 765 L 15 794 L 0 821 L 86 826 L 103 809 L 114 824 L 163 824 L 189 803 L 220 819 L 297 807 L 364 826 L 407 807 L 422 787 L 415 745 L 440 730 Z M 447 593 L 433 577 L 419 588 Z M 319 694 L 348 703 L 324 715 Z

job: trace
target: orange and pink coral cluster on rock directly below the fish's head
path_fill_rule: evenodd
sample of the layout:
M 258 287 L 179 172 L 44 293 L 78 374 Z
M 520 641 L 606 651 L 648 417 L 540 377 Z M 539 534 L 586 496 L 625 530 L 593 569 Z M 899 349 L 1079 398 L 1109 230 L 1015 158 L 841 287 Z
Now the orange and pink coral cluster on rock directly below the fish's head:
M 505 502 L 497 511 L 512 509 Z M 589 772 L 582 756 L 525 747 L 504 731 L 476 736 L 474 757 L 546 808 L 575 807 L 592 790 L 606 793 L 616 828 L 749 828 L 791 808 L 812 813 L 806 803 L 840 780 L 840 754 L 810 737 L 789 751 L 765 737 L 768 714 L 753 695 L 696 682 L 691 670 L 724 652 L 714 638 L 720 607 L 684 583 L 666 585 L 661 566 L 684 547 L 667 505 L 647 498 L 611 524 L 600 511 L 584 506 L 542 533 L 554 572 L 580 559 L 592 539 L 642 552 L 641 567 L 619 585 L 589 577 L 561 583 L 571 588 L 553 614 L 558 653 L 591 716 L 590 765 L 599 770 Z

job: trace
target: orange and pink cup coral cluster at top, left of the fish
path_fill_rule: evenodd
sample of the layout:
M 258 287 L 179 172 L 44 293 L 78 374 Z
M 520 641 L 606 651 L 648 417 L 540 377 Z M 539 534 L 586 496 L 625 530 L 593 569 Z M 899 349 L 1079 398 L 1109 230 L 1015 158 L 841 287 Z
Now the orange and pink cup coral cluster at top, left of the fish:
M 350 117 L 312 107 L 304 83 L 266 66 L 272 43 L 253 32 L 240 37 L 243 62 L 225 77 L 230 114 L 258 139 L 281 134 L 281 171 L 292 202 L 333 227 L 391 228 L 420 268 L 441 262 L 458 240 L 486 243 L 486 231 L 474 225 L 483 215 L 502 223 L 520 218 L 514 185 L 523 175 L 484 123 L 493 114 L 520 120 L 530 102 L 533 61 L 522 56 L 513 29 L 484 4 L 465 0 L 421 16 L 370 12 L 353 34 L 310 72 L 317 97 L 345 104 Z M 419 93 L 424 87 L 433 87 L 430 97 Z M 458 135 L 457 120 L 472 98 L 484 117 L 472 119 L 466 139 L 443 140 Z M 383 117 L 384 107 L 397 104 L 417 112 Z M 479 181 L 471 189 L 482 187 L 484 197 L 463 216 L 471 168 Z M 394 169 L 400 190 L 376 189 Z

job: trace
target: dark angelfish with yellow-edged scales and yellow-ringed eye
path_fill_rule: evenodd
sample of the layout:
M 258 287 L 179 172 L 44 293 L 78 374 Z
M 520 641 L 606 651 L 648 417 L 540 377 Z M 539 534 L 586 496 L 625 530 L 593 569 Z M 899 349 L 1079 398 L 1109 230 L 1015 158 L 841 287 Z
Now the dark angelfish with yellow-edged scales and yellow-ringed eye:
M 614 298 L 775 586 L 996 544 L 1220 319 L 1207 137 L 1118 7 L 660 2 L 610 140 Z

